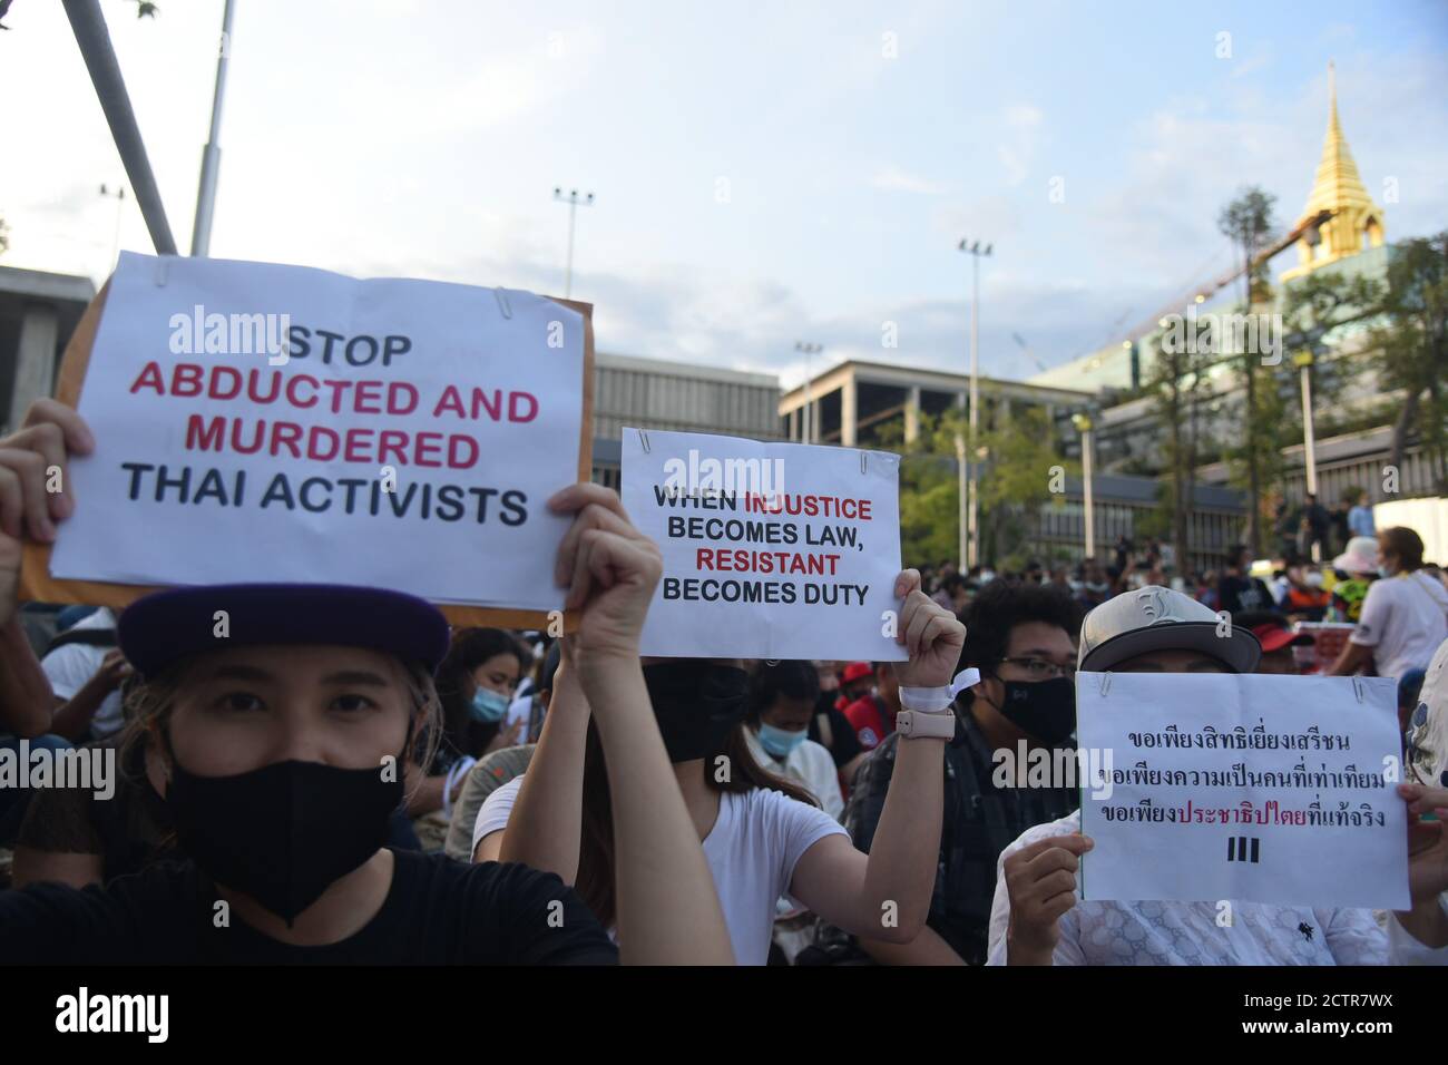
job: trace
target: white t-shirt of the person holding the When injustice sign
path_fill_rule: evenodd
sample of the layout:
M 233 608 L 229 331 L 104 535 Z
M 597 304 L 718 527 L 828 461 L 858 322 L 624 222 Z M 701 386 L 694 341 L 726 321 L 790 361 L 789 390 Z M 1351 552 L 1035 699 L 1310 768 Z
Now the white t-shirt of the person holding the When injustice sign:
M 508 826 L 521 787 L 523 777 L 514 777 L 484 800 L 472 830 L 475 852 L 484 836 Z M 789 894 L 804 852 L 835 835 L 849 833 L 824 810 L 780 791 L 720 794 L 720 814 L 704 838 L 704 858 L 738 965 L 763 965 L 769 959 L 776 900 Z

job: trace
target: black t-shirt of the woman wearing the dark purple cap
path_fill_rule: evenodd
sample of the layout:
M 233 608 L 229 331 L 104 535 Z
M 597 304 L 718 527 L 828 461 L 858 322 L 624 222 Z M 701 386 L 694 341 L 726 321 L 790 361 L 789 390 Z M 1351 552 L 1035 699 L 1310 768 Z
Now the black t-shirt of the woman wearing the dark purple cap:
M 598 919 L 559 877 L 515 862 L 465 865 L 392 851 L 392 885 L 359 932 L 327 946 L 264 936 L 193 862 L 165 862 L 106 888 L 35 884 L 0 893 L 0 959 L 146 965 L 613 965 Z M 560 903 L 556 906 L 555 903 Z

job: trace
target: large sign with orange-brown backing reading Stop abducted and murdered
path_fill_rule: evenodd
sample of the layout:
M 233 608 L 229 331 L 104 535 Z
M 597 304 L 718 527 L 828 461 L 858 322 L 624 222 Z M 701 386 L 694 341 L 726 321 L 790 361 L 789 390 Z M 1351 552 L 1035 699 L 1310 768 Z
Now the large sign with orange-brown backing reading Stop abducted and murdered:
M 458 625 L 562 607 L 549 496 L 586 480 L 588 304 L 416 280 L 123 254 L 58 398 L 97 449 L 25 591 L 123 606 L 156 585 L 369 584 Z

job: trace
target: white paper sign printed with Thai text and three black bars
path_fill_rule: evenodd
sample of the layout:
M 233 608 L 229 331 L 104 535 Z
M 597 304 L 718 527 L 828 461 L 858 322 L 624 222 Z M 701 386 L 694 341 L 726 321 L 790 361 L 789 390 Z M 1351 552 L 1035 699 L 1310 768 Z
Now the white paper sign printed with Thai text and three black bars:
M 1079 674 L 1109 755 L 1082 897 L 1407 909 L 1396 707 L 1378 677 Z

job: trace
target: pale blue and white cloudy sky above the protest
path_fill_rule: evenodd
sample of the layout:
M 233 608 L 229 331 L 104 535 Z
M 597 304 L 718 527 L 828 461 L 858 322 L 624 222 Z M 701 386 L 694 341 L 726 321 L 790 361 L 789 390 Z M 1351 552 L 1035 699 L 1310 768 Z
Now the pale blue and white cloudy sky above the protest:
M 101 0 L 187 249 L 222 3 L 159 6 Z M 1037 369 L 1012 333 L 1045 364 L 1098 348 L 1228 265 L 1215 217 L 1238 187 L 1296 219 L 1329 58 L 1368 190 L 1396 180 L 1389 238 L 1448 227 L 1442 3 L 1371 25 L 1337 0 L 236 7 L 213 255 L 562 294 L 552 188 L 576 187 L 598 201 L 573 296 L 604 351 L 786 383 L 801 339 L 822 361 L 961 368 L 964 235 L 996 243 L 985 372 Z M 59 0 L 17 0 L 6 25 L 3 262 L 101 278 L 98 185 L 123 180 L 104 117 Z M 152 251 L 133 201 L 120 245 Z

